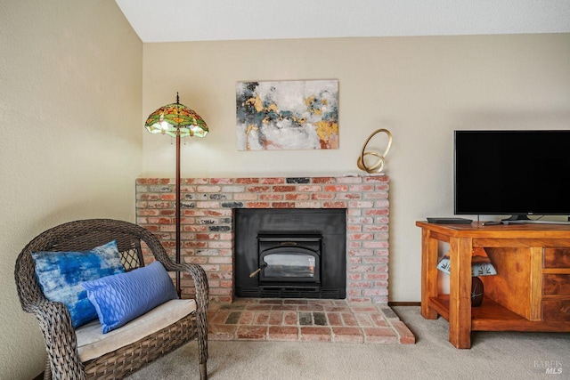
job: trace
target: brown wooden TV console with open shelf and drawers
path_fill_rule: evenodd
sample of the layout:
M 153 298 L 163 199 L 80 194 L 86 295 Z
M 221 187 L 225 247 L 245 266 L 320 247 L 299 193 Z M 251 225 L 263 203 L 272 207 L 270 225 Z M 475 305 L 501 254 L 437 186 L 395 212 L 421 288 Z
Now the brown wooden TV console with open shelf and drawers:
M 421 228 L 421 315 L 449 321 L 449 341 L 471 347 L 471 331 L 570 332 L 570 225 L 433 224 Z M 438 246 L 450 245 L 449 295 L 439 295 Z M 471 253 L 482 247 L 496 276 L 471 307 Z

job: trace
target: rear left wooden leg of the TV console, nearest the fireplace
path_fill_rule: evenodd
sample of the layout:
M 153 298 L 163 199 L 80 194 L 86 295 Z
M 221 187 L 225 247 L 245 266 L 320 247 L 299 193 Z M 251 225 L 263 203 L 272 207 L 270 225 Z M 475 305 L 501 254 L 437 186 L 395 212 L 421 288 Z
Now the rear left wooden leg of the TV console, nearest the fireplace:
M 421 233 L 421 315 L 437 319 L 437 312 L 429 307 L 429 298 L 437 296 L 437 240 L 429 230 Z

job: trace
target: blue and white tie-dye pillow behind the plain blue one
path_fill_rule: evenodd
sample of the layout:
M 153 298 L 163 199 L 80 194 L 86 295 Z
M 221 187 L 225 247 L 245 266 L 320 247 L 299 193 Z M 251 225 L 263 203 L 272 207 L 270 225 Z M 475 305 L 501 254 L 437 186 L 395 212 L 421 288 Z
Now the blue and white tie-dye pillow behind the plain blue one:
M 32 252 L 31 255 L 45 298 L 67 306 L 73 327 L 97 319 L 94 305 L 79 284 L 125 271 L 115 240 L 90 251 Z

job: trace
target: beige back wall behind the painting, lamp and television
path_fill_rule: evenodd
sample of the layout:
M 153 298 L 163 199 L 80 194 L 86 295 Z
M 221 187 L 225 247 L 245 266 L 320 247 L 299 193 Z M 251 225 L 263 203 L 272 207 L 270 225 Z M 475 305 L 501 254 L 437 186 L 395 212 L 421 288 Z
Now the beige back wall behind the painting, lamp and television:
M 178 91 L 211 130 L 183 147 L 185 177 L 354 173 L 368 135 L 377 128 L 392 131 L 390 301 L 419 301 L 420 230 L 414 222 L 453 214 L 454 129 L 570 128 L 568 34 L 144 44 L 143 49 L 143 115 L 174 101 Z M 339 81 L 340 149 L 236 150 L 237 81 L 322 78 Z M 169 139 L 148 133 L 142 139 L 144 175 L 172 177 L 175 153 Z M 380 140 L 374 145 L 383 149 Z

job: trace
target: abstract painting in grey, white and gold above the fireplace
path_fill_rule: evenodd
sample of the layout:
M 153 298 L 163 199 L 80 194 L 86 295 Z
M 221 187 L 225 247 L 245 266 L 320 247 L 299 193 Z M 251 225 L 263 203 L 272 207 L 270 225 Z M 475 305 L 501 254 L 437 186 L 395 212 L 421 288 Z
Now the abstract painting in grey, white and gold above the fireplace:
M 239 82 L 238 150 L 338 149 L 338 80 Z

